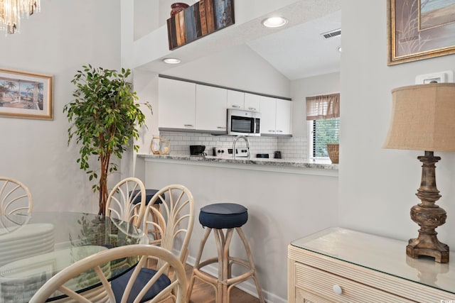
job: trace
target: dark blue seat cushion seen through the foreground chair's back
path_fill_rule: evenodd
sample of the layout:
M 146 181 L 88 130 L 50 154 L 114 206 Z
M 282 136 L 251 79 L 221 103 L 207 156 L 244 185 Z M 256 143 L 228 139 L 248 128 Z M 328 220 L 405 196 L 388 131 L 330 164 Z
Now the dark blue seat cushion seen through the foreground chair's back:
M 129 278 L 131 277 L 133 270 L 134 268 L 128 270 L 120 277 L 116 277 L 114 280 L 112 280 L 111 285 L 112 291 L 114 292 L 115 302 L 119 303 L 122 301 L 124 290 L 127 287 Z M 136 281 L 134 282 L 132 290 L 129 293 L 127 303 L 134 302 L 134 299 L 136 299 L 139 292 L 141 292 L 141 290 L 144 288 L 147 282 L 149 282 L 149 280 L 152 277 L 154 277 L 155 274 L 156 270 L 152 270 L 150 268 L 141 269 L 139 275 L 137 276 Z M 168 287 L 168 285 L 171 285 L 171 280 L 169 280 L 169 278 L 166 275 L 161 275 L 161 277 L 159 277 L 158 280 L 156 280 L 154 285 L 152 285 L 149 288 L 145 296 L 141 299 L 141 302 L 146 302 L 149 301 L 150 299 L 153 299 L 154 297 L 156 297 L 156 294 L 159 294 L 159 292 Z

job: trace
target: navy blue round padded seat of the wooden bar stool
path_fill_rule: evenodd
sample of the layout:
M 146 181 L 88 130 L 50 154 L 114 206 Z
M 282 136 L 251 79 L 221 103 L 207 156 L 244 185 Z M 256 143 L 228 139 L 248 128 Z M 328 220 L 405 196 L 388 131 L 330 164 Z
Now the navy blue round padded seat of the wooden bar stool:
M 216 203 L 203 206 L 199 213 L 199 222 L 210 228 L 235 228 L 248 221 L 248 210 L 235 203 Z

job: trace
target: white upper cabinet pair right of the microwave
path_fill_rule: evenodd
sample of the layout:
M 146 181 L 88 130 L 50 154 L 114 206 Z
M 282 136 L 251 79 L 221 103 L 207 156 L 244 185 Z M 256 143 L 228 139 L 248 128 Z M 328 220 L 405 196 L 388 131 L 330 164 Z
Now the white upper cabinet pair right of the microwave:
M 291 101 L 262 97 L 261 123 L 263 135 L 291 135 Z

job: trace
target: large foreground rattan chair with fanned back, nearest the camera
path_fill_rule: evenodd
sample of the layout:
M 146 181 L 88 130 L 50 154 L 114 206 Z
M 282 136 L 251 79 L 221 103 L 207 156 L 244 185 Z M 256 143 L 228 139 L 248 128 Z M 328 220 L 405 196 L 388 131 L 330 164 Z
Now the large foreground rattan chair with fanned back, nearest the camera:
M 140 256 L 136 267 L 109 282 L 109 277 L 103 273 L 102 265 L 112 260 L 134 256 Z M 162 260 L 163 266 L 158 270 L 146 268 L 150 256 Z M 185 268 L 183 268 L 180 260 L 165 248 L 148 244 L 135 244 L 103 250 L 73 263 L 45 282 L 33 295 L 30 303 L 45 302 L 56 291 L 63 292 L 68 297 L 75 299 L 76 302 L 92 302 L 84 296 L 84 292 L 77 293 L 65 287 L 66 282 L 83 272 L 87 272 L 87 270 L 93 270 L 100 278 L 101 287 L 104 288 L 109 302 L 155 303 L 161 302 L 169 295 L 173 297 L 173 301 L 176 303 L 186 302 L 188 283 Z M 170 272 L 171 275 L 169 275 Z

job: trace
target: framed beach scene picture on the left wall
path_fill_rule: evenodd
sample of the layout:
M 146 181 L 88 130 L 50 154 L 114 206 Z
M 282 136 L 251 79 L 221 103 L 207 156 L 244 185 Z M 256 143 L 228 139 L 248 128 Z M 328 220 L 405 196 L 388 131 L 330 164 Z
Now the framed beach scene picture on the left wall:
M 52 119 L 52 76 L 0 69 L 0 117 Z

